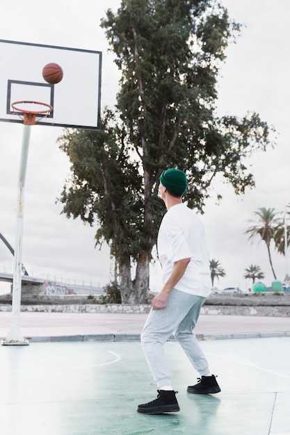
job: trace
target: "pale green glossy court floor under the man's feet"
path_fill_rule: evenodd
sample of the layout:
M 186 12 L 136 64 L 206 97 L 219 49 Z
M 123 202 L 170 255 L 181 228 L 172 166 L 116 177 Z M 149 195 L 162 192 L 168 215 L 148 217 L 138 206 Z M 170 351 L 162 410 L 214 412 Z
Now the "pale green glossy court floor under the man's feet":
M 139 342 L 0 347 L 5 435 L 290 434 L 290 338 L 200 342 L 222 392 L 191 395 L 198 374 L 166 343 L 180 411 L 136 412 L 156 398 Z

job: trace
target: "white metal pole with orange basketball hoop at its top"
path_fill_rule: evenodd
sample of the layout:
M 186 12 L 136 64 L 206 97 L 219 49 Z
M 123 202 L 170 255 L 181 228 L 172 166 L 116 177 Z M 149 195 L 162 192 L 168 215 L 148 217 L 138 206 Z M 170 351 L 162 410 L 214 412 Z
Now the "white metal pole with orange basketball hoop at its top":
M 47 106 L 46 110 L 25 110 L 18 109 L 15 104 L 41 104 Z M 13 295 L 12 295 L 12 322 L 10 331 L 6 338 L 1 340 L 1 345 L 29 345 L 29 340 L 24 338 L 20 330 L 20 311 L 21 311 L 21 290 L 22 290 L 22 240 L 23 240 L 23 217 L 24 217 L 24 186 L 26 179 L 26 167 L 29 155 L 29 141 L 31 136 L 31 125 L 34 125 L 35 117 L 47 116 L 52 107 L 47 104 L 36 103 L 33 101 L 18 101 L 13 105 L 13 108 L 22 114 L 24 121 L 24 129 L 22 136 L 22 152 L 20 158 L 18 190 L 17 190 L 17 228 L 15 237 L 15 256 L 13 270 Z M 16 113 L 16 112 L 15 112 Z M 17 113 L 17 115 L 19 115 Z M 46 115 L 45 115 L 46 113 Z

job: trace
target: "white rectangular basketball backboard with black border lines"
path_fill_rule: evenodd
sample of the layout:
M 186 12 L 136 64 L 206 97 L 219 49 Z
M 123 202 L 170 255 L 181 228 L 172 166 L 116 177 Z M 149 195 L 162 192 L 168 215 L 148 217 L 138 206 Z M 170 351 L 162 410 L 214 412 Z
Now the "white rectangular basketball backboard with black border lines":
M 40 101 L 53 107 L 38 124 L 100 128 L 102 52 L 0 40 L 0 121 L 22 122 L 15 101 Z M 47 63 L 58 63 L 63 80 L 42 77 Z

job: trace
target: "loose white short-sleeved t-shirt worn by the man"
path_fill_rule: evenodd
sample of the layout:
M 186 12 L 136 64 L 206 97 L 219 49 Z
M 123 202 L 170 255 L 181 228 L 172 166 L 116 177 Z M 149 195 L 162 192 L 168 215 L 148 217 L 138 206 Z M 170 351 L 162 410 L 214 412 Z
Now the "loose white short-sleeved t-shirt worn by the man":
M 211 293 L 209 252 L 204 226 L 186 204 L 170 207 L 161 222 L 157 249 L 166 283 L 176 261 L 191 258 L 175 288 L 185 293 L 207 297 Z

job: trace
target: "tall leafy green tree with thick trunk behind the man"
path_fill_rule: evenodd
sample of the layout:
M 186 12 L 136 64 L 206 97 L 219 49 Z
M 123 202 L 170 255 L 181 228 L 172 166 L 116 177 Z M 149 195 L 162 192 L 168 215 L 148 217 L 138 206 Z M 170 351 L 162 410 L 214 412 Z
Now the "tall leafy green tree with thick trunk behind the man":
M 271 145 L 271 129 L 257 113 L 242 118 L 216 115 L 219 67 L 225 60 L 229 40 L 239 32 L 239 24 L 229 20 L 227 10 L 218 1 L 122 0 L 117 13 L 106 12 L 102 27 L 122 74 L 114 119 L 118 132 L 122 131 L 124 159 L 130 165 L 131 179 L 126 177 L 125 162 L 123 166 L 118 164 L 115 174 L 116 162 L 111 162 L 115 157 L 104 146 L 102 152 L 107 156 L 102 161 L 98 189 L 92 195 L 90 216 L 95 213 L 99 218 L 102 210 L 97 203 L 102 200 L 107 204 L 105 199 L 114 192 L 115 201 L 116 196 L 122 205 L 119 213 L 112 206 L 106 208 L 106 224 L 104 219 L 99 233 L 118 252 L 122 301 L 140 302 L 147 295 L 152 247 L 164 212 L 157 199 L 161 172 L 168 167 L 185 170 L 190 187 L 184 199 L 201 211 L 217 174 L 232 184 L 236 194 L 255 186 L 246 158 Z M 118 120 L 122 129 L 117 127 Z M 72 140 L 83 140 L 81 147 L 102 147 L 99 132 L 72 134 Z M 70 135 L 65 138 L 64 150 L 73 170 L 78 170 L 82 163 L 70 147 Z M 90 171 L 94 171 L 92 166 Z M 85 179 L 81 182 L 75 174 L 61 199 L 70 204 L 67 215 L 74 215 L 72 210 L 77 213 L 74 190 L 86 192 L 87 188 Z M 124 185 L 116 186 L 114 177 Z M 104 197 L 99 197 L 99 189 Z M 127 190 L 131 192 L 130 200 Z M 127 195 L 120 199 L 122 192 Z M 77 193 L 85 202 L 86 195 Z M 115 214 L 113 223 L 110 213 Z M 122 238 L 116 233 L 120 213 L 122 229 L 126 227 Z M 134 279 L 132 262 L 136 264 Z

